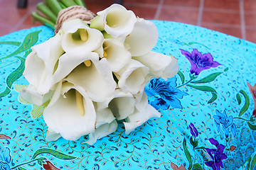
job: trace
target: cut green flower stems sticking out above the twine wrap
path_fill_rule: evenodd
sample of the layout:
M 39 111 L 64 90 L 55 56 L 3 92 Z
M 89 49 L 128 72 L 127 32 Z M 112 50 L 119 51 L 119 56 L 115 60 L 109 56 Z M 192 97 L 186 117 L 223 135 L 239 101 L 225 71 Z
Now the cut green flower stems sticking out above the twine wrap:
M 45 0 L 36 6 L 38 11 L 41 13 L 36 11 L 31 13 L 33 17 L 33 23 L 39 21 L 44 25 L 53 28 L 54 30 L 58 13 L 63 8 L 68 8 L 70 6 L 83 6 L 87 8 L 83 0 Z

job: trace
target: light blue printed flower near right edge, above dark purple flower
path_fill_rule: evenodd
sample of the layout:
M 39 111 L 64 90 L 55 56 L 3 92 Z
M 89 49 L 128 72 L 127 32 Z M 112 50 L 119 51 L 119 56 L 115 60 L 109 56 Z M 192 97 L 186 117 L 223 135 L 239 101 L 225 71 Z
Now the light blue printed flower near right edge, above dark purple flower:
M 225 137 L 228 137 L 229 131 L 231 130 L 233 136 L 235 136 L 235 123 L 233 123 L 233 116 L 227 115 L 225 111 L 221 113 L 220 111 L 216 110 L 216 115 L 213 115 L 215 120 L 215 125 L 217 128 L 217 132 L 220 132 L 220 124 L 223 127 L 223 131 L 225 133 Z

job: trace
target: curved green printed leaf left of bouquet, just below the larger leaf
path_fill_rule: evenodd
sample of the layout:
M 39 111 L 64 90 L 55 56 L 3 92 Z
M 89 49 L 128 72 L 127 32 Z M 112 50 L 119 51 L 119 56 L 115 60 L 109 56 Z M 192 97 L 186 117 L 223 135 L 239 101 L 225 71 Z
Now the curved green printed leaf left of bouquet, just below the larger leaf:
M 18 66 L 14 72 L 9 74 L 9 76 L 6 79 L 6 84 L 11 89 L 11 85 L 14 84 L 14 81 L 16 81 L 18 78 L 20 78 L 24 72 L 25 69 L 25 59 L 23 57 L 16 56 L 21 61 L 21 64 Z

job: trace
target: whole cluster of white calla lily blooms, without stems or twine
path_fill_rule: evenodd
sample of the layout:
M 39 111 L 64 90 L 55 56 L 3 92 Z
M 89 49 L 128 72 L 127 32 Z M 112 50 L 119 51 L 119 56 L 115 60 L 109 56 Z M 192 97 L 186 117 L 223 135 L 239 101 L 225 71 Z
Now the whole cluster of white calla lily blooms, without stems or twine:
M 151 51 L 157 39 L 154 23 L 113 4 L 89 23 L 63 22 L 53 38 L 32 47 L 23 72 L 29 85 L 21 96 L 36 105 L 48 102 L 46 140 L 88 135 L 93 145 L 117 130 L 117 120 L 128 135 L 160 117 L 144 86 L 153 77 L 174 77 L 178 63 Z

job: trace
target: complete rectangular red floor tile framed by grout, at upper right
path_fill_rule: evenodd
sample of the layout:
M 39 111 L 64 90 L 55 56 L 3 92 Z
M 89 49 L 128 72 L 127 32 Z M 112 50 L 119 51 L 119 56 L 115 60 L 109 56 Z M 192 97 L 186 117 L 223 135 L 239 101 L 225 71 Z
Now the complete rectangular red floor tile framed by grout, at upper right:
M 240 13 L 225 13 L 218 11 L 203 11 L 202 22 L 205 23 L 223 23 L 240 24 Z

